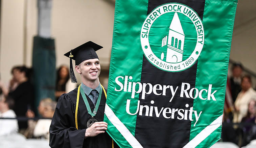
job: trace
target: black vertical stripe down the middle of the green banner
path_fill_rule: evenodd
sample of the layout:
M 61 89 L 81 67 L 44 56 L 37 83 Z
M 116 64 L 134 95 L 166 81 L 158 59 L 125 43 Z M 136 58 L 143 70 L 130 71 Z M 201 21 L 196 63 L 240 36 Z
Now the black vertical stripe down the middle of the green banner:
M 205 0 L 149 0 L 148 1 L 148 11 L 149 14 L 157 6 L 177 2 L 182 3 L 190 8 L 194 9 L 201 20 L 203 19 L 203 11 Z M 145 56 L 143 56 L 142 72 L 141 72 L 141 83 L 151 83 L 153 86 L 155 84 L 160 85 L 172 85 L 174 90 L 176 86 L 179 86 L 175 97 L 171 102 L 170 96 L 171 92 L 166 91 L 166 96 L 146 94 L 145 99 L 141 99 L 142 94 L 140 93 L 140 105 L 148 106 L 149 108 L 158 107 L 158 112 L 161 108 L 171 108 L 171 109 L 184 109 L 188 110 L 193 106 L 193 99 L 180 97 L 181 84 L 182 82 L 189 83 L 190 88 L 195 87 L 196 78 L 196 68 L 197 61 L 190 68 L 180 71 L 180 72 L 167 72 L 158 69 L 153 64 L 151 64 Z M 148 91 L 149 87 L 146 87 Z M 160 92 L 158 92 L 160 93 Z M 153 101 L 152 101 L 153 100 Z M 186 104 L 189 107 L 186 107 Z M 145 109 L 143 109 L 143 114 L 145 114 Z M 155 110 L 153 110 L 153 117 L 139 115 L 137 114 L 135 138 L 140 142 L 140 144 L 145 148 L 181 148 L 189 142 L 191 121 L 189 118 L 187 120 L 178 120 L 177 114 L 174 115 L 174 119 L 166 119 L 163 117 L 162 112 L 159 117 L 156 117 Z

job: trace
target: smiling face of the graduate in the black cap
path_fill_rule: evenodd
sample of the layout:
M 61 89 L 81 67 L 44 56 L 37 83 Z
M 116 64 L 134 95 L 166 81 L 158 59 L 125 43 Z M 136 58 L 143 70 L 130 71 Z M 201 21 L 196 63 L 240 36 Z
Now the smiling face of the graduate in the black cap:
M 99 59 L 85 60 L 76 66 L 76 71 L 82 75 L 86 81 L 94 82 L 98 80 L 100 74 Z

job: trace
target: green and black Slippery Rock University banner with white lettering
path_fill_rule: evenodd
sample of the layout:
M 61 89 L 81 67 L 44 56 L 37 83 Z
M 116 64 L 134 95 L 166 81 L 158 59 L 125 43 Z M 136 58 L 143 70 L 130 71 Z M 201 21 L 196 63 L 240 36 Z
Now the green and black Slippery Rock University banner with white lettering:
M 220 139 L 237 0 L 116 0 L 104 121 L 123 148 Z

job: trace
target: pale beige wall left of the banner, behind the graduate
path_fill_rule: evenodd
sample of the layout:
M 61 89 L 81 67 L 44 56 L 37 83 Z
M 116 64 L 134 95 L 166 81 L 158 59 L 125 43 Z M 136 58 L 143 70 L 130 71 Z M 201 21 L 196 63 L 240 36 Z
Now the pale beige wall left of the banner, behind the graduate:
M 113 1 L 53 0 L 51 17 L 56 67 L 69 66 L 69 59 L 63 54 L 91 40 L 104 47 L 97 54 L 101 68 L 108 69 L 114 24 Z M 37 21 L 37 0 L 1 0 L 0 75 L 6 85 L 13 66 L 32 64 Z

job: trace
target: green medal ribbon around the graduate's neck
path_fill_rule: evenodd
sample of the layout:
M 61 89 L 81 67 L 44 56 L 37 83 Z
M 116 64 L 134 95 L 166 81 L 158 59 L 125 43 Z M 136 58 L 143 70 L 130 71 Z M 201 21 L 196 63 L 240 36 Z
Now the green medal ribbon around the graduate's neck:
M 84 99 L 84 102 L 85 102 L 85 105 L 86 105 L 86 108 L 87 108 L 87 111 L 88 113 L 93 117 L 96 115 L 97 111 L 98 111 L 98 108 L 99 108 L 99 102 L 100 102 L 100 99 L 101 99 L 101 94 L 102 94 L 102 87 L 100 87 L 100 91 L 99 91 L 99 96 L 98 96 L 98 99 L 97 99 L 97 102 L 96 102 L 96 105 L 94 107 L 94 111 L 92 112 L 91 111 L 91 108 L 90 108 L 90 105 L 89 105 L 89 102 L 87 100 L 87 97 L 85 96 L 85 92 L 83 90 L 83 87 L 80 88 L 80 93 L 82 94 L 82 97 Z

